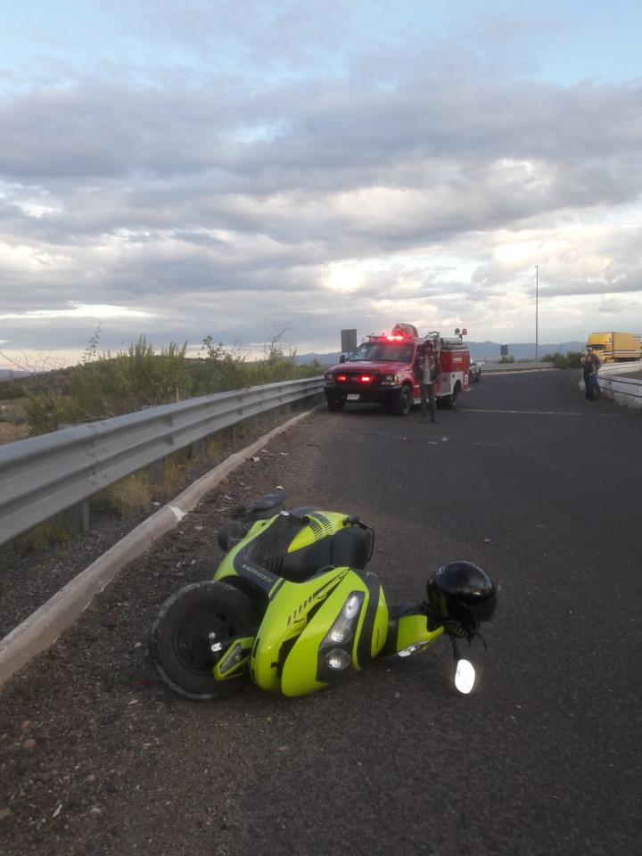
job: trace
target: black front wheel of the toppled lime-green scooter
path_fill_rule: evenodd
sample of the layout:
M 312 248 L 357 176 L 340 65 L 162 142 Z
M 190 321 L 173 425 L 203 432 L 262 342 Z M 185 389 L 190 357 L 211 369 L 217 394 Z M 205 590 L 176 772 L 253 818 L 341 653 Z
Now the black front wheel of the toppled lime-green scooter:
M 251 636 L 257 615 L 251 600 L 225 582 L 204 580 L 179 588 L 159 610 L 150 631 L 150 654 L 161 679 L 178 695 L 204 702 L 228 695 L 238 679 L 217 683 L 212 667 L 236 636 Z M 210 633 L 223 648 L 210 650 Z

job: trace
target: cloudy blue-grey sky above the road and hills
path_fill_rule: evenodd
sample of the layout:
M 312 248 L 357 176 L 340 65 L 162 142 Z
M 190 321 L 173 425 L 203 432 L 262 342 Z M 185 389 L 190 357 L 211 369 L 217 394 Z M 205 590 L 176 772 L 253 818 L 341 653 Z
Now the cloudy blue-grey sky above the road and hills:
M 642 325 L 639 0 L 21 0 L 0 367 Z

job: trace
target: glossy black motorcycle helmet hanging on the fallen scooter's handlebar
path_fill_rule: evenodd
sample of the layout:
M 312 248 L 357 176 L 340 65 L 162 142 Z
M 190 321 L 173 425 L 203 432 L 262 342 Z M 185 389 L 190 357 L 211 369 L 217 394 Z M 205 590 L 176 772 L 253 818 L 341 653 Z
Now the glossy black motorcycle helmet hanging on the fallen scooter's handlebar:
M 441 565 L 426 585 L 428 611 L 438 624 L 457 621 L 467 633 L 480 621 L 490 621 L 497 605 L 497 588 L 490 576 L 472 562 Z

